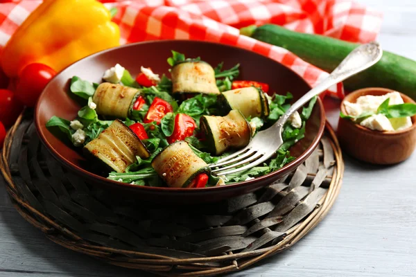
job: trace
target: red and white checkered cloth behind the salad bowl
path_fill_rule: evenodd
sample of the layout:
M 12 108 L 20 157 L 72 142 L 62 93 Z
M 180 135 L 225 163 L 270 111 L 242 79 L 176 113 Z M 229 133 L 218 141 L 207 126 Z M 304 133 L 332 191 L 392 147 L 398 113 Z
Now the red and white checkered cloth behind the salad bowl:
M 42 3 L 0 0 L 0 48 Z M 7 2 L 7 3 L 5 3 Z M 121 44 L 153 39 L 198 39 L 250 49 L 285 64 L 312 86 L 328 73 L 293 53 L 239 35 L 250 24 L 279 24 L 304 33 L 328 35 L 350 42 L 376 38 L 382 15 L 350 0 L 102 0 L 116 7 Z M 331 94 L 343 97 L 338 85 Z

